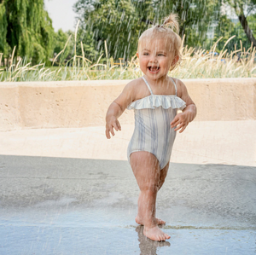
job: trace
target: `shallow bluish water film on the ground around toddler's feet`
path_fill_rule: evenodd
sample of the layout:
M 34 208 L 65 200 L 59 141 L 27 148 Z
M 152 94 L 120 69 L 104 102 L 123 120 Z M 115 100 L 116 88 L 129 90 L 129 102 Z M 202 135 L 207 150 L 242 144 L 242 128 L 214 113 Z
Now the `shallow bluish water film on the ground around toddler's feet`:
M 96 212 L 1 212 L 0 254 L 255 254 L 256 229 L 163 227 L 171 239 L 151 241 L 133 216 Z M 101 216 L 102 214 L 102 216 Z M 108 217 L 106 217 L 108 215 Z M 113 215 L 114 218 L 111 218 Z

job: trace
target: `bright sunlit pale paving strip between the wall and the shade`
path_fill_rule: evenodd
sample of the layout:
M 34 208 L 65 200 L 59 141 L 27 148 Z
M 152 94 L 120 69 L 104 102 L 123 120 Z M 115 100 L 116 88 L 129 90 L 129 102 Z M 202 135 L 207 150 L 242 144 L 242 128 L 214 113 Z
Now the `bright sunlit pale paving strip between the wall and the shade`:
M 195 121 L 177 133 L 172 162 L 256 166 L 256 120 Z M 105 128 L 0 132 L 0 154 L 127 160 L 133 125 L 108 140 Z

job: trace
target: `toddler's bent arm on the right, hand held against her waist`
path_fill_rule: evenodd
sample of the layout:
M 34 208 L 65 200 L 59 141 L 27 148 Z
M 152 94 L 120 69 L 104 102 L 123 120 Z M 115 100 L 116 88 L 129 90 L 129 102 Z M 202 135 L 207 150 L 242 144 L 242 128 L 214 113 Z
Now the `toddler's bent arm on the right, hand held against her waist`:
M 177 80 L 178 95 L 186 102 L 186 107 L 183 109 L 183 113 L 177 113 L 175 118 L 171 122 L 171 127 L 176 127 L 175 131 L 179 130 L 180 133 L 185 130 L 189 122 L 195 119 L 196 107 L 195 102 L 189 96 L 188 90 L 181 80 Z

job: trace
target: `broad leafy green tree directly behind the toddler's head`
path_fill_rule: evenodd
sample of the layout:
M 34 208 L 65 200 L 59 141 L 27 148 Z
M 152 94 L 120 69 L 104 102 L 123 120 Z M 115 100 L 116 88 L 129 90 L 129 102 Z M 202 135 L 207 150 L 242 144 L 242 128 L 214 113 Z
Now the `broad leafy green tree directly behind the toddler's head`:
M 207 29 L 218 20 L 221 0 L 79 0 L 74 9 L 86 31 L 93 32 L 95 49 L 104 49 L 114 58 L 135 55 L 141 33 L 171 12 L 180 17 L 180 36 L 189 46 L 203 46 Z

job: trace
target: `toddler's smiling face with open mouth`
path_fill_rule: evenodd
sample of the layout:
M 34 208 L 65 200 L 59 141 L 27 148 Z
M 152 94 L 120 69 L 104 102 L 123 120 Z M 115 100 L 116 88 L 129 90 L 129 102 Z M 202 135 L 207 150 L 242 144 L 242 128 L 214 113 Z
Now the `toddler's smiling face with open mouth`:
M 137 57 L 143 73 L 154 80 L 166 77 L 176 60 L 172 43 L 165 38 L 144 39 L 140 43 Z

